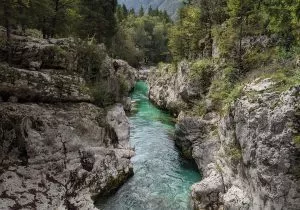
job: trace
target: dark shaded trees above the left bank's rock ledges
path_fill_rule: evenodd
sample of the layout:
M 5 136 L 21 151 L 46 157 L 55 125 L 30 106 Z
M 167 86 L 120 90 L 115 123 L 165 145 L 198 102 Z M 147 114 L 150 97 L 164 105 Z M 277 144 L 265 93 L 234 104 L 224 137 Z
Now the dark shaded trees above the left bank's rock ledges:
M 0 4 L 1 25 L 20 26 L 23 31 L 38 29 L 45 38 L 95 36 L 109 45 L 116 31 L 116 0 L 5 0 L 4 3 Z

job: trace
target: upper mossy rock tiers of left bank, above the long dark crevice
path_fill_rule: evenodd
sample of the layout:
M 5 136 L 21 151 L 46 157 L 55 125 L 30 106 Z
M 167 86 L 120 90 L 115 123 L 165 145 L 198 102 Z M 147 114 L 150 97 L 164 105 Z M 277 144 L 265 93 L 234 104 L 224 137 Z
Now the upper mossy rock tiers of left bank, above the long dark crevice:
M 0 47 L 0 61 L 5 62 L 7 55 L 6 47 Z M 104 89 L 112 103 L 122 103 L 138 78 L 136 69 L 110 58 L 103 45 L 72 38 L 13 35 L 11 62 L 13 67 L 1 64 L 0 91 L 4 97 L 15 94 L 20 101 L 94 102 L 93 86 Z

